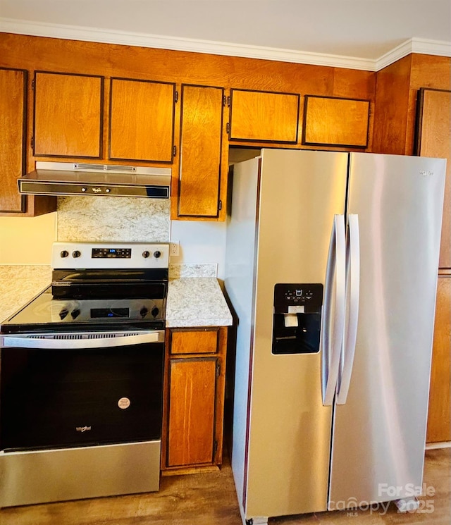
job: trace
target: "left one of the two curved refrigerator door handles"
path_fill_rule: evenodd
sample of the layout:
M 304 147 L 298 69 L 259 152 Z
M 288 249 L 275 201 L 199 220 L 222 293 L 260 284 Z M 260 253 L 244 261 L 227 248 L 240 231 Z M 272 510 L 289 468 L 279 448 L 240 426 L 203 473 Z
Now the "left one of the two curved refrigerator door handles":
M 334 294 L 335 284 L 335 294 Z M 335 304 L 333 305 L 333 301 Z M 345 216 L 335 215 L 330 234 L 321 323 L 321 390 L 323 405 L 331 405 L 337 388 L 346 311 Z

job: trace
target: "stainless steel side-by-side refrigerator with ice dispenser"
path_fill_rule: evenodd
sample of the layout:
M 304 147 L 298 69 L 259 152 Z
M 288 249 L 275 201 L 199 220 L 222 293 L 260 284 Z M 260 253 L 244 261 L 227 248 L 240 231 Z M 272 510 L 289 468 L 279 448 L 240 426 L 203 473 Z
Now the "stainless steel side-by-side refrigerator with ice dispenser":
M 243 522 L 419 494 L 444 183 L 445 160 L 424 157 L 263 149 L 235 164 Z

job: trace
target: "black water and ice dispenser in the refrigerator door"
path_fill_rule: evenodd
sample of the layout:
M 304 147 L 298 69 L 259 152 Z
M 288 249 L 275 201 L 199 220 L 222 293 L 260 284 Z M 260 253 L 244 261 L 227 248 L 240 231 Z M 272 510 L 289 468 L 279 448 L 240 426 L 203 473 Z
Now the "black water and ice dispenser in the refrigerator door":
M 319 352 L 323 285 L 274 286 L 273 354 Z

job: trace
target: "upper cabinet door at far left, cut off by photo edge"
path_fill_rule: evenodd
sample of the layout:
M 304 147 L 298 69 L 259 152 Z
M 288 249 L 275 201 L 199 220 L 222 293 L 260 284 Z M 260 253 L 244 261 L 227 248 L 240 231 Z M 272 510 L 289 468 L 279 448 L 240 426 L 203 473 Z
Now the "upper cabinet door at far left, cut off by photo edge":
M 25 170 L 27 72 L 0 69 L 0 211 L 25 211 L 17 180 Z

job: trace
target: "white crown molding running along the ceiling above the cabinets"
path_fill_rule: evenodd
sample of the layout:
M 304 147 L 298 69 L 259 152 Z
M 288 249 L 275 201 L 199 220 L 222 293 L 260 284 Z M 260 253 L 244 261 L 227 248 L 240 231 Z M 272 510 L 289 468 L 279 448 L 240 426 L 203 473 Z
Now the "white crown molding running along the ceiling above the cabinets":
M 243 58 L 259 58 L 280 62 L 303 63 L 314 66 L 329 66 L 333 68 L 359 69 L 378 71 L 390 63 L 403 58 L 409 53 L 451 56 L 451 42 L 412 38 L 395 47 L 381 58 L 357 58 L 333 54 L 309 53 L 293 51 L 292 49 L 276 49 L 272 47 L 230 44 L 210 40 L 188 39 L 149 35 L 139 32 L 105 30 L 77 25 L 60 25 L 44 22 L 30 22 L 0 17 L 0 32 L 30 35 L 35 37 L 51 37 L 85 42 L 101 42 L 104 44 L 121 44 L 128 46 L 150 47 L 154 49 L 170 49 L 172 51 L 192 51 L 225 56 L 240 56 Z

